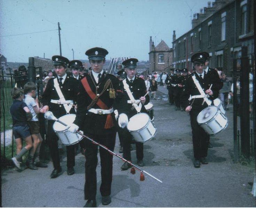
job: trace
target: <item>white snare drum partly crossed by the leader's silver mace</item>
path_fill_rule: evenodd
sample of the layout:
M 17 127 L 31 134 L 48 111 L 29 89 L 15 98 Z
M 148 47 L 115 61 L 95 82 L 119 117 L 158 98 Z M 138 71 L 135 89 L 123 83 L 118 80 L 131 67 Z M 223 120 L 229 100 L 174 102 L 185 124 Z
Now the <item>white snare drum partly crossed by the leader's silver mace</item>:
M 75 114 L 67 114 L 60 117 L 59 120 L 69 126 L 71 123 L 73 123 L 73 121 L 75 121 L 75 118 Z M 56 135 L 60 138 L 61 142 L 64 145 L 69 146 L 80 142 L 83 137 L 77 133 L 71 133 L 70 131 L 68 131 L 68 126 L 64 126 L 57 121 L 53 123 L 53 130 Z M 83 133 L 83 131 L 80 132 Z

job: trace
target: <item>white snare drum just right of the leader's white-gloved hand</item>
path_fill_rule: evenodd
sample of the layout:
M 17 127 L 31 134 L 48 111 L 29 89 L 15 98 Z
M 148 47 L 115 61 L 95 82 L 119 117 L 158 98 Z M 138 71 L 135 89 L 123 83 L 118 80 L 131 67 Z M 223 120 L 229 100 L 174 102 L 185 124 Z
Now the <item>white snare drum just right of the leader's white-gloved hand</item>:
M 156 128 L 147 113 L 138 113 L 130 118 L 127 129 L 136 142 L 147 142 L 156 134 Z

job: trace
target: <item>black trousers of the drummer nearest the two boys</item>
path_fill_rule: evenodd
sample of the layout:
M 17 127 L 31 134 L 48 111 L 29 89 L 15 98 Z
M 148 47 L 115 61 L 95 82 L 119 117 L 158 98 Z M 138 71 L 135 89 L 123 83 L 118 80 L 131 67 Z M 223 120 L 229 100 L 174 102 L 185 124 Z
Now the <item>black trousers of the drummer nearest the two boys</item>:
M 58 149 L 58 139 L 59 137 L 55 134 L 53 130 L 54 121 L 48 121 L 48 144 L 50 147 L 51 158 L 53 161 L 53 167 L 59 169 L 60 166 L 60 154 Z M 71 168 L 75 166 L 75 145 L 66 146 L 67 149 L 67 167 Z

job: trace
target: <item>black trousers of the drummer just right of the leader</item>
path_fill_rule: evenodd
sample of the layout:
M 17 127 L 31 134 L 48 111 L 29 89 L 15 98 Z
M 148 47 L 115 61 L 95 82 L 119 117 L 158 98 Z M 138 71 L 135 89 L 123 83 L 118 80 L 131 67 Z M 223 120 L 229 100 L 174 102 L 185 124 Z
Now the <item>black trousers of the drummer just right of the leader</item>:
M 132 143 L 132 135 L 128 131 L 128 129 L 125 127 L 121 130 L 121 136 L 123 140 L 123 157 L 126 160 L 131 161 L 131 150 L 130 150 L 130 144 Z M 142 160 L 143 155 L 143 143 L 141 142 L 135 142 L 136 145 L 136 158 L 137 160 Z

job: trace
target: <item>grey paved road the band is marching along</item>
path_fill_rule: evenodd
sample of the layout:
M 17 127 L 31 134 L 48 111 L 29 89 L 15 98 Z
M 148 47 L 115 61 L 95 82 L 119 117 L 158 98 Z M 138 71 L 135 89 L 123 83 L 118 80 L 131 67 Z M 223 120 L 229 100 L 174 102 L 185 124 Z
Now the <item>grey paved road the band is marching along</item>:
M 234 164 L 232 160 L 232 113 L 227 112 L 228 128 L 211 138 L 214 148 L 208 151 L 208 165 L 194 168 L 192 163 L 192 135 L 186 112 L 174 111 L 165 97 L 167 90 L 159 87 L 153 100 L 157 134 L 145 143 L 144 169 L 161 179 L 159 183 L 145 175 L 140 181 L 138 171 L 121 171 L 122 161 L 114 157 L 112 203 L 101 204 L 99 193 L 100 165 L 98 165 L 99 207 L 255 207 L 250 195 L 255 168 Z M 115 152 L 119 142 L 116 140 Z M 134 146 L 133 146 L 134 147 Z M 134 147 L 135 148 L 135 147 Z M 132 151 L 135 160 L 135 151 Z M 84 157 L 76 156 L 76 174 L 68 176 L 65 158 L 64 173 L 51 179 L 53 170 L 13 169 L 2 171 L 3 207 L 82 207 L 84 201 Z

